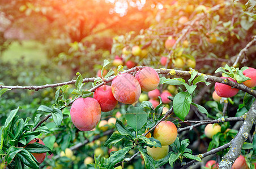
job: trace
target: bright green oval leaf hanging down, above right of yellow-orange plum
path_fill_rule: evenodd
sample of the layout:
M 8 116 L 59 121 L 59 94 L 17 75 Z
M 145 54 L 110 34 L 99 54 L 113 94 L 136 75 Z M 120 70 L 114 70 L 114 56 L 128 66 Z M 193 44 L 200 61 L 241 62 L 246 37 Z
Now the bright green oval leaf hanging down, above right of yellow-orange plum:
M 173 111 L 182 121 L 189 114 L 192 98 L 188 92 L 180 92 L 173 99 Z

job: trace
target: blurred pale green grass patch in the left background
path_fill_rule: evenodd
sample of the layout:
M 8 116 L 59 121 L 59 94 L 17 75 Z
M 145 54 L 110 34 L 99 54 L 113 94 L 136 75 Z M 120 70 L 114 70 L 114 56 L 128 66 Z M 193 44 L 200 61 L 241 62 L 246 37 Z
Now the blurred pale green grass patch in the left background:
M 37 61 L 40 64 L 46 63 L 46 52 L 44 45 L 37 41 L 13 42 L 11 46 L 3 52 L 3 61 L 11 61 L 24 57 L 24 61 Z

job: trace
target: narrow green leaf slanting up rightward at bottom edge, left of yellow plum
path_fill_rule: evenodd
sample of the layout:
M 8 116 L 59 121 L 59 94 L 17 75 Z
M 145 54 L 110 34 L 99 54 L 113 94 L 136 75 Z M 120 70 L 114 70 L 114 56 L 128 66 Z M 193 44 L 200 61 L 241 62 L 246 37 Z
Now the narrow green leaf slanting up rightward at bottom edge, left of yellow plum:
M 131 148 L 131 146 L 126 146 L 125 148 L 118 150 L 117 152 L 110 155 L 107 168 L 113 168 L 116 163 L 123 161 L 125 154 L 127 154 Z

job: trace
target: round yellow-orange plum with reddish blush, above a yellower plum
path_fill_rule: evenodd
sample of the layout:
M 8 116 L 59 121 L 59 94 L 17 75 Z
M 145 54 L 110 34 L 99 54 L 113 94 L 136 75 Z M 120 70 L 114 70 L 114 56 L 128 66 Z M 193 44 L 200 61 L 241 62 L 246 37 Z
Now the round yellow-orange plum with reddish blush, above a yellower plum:
M 161 121 L 153 132 L 153 137 L 159 140 L 162 146 L 173 144 L 177 135 L 177 127 L 170 121 Z

